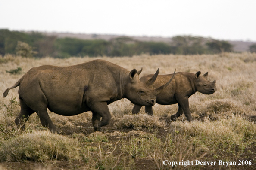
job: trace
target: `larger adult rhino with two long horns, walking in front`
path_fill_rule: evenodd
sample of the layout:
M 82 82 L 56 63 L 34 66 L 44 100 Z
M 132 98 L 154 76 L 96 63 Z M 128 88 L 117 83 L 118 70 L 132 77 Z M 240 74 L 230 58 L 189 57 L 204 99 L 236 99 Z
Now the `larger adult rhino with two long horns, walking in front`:
M 109 124 L 111 118 L 108 104 L 127 98 L 137 105 L 152 106 L 156 103 L 156 95 L 173 79 L 153 89 L 140 82 L 141 71 L 128 71 L 104 60 L 69 67 L 43 65 L 31 68 L 15 85 L 6 89 L 3 97 L 10 89 L 19 86 L 21 111 L 15 123 L 22 129 L 25 128 L 24 122 L 36 112 L 42 125 L 56 132 L 47 113 L 48 108 L 64 116 L 91 110 L 94 131 L 103 131 L 101 127 Z M 148 86 L 153 85 L 158 73 L 159 69 L 149 80 Z

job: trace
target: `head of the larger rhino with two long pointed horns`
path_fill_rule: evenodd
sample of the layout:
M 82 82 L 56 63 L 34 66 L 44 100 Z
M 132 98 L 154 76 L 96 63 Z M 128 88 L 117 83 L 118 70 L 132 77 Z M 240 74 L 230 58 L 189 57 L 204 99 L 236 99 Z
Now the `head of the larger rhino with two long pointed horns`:
M 146 83 L 143 83 L 139 79 L 140 71 L 137 72 L 136 69 L 131 70 L 129 73 L 128 83 L 125 87 L 125 98 L 131 101 L 131 103 L 140 105 L 140 106 L 153 106 L 156 103 L 156 96 L 161 93 L 164 88 L 169 85 L 172 81 L 175 73 L 172 78 L 165 85 L 162 85 L 159 88 L 152 88 L 153 83 L 156 81 L 156 77 L 159 74 L 159 68 L 151 79 Z

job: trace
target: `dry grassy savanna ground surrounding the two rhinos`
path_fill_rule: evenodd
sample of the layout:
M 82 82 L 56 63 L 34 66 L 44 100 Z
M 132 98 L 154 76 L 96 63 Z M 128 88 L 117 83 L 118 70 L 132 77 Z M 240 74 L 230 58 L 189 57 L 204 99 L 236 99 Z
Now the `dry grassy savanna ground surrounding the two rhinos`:
M 69 66 L 96 58 L 31 59 L 11 55 L 0 57 L 0 92 L 14 85 L 31 67 L 44 64 Z M 49 112 L 59 134 L 42 127 L 31 115 L 25 131 L 14 119 L 20 111 L 18 88 L 0 97 L 0 170 L 165 170 L 168 161 L 244 160 L 251 165 L 178 165 L 180 169 L 256 169 L 256 54 L 141 55 L 101 59 L 128 70 L 143 67 L 141 76 L 155 73 L 209 72 L 217 91 L 197 92 L 190 97 L 193 122 L 184 115 L 176 122 L 170 116 L 178 105 L 153 106 L 154 116 L 132 115 L 133 104 L 122 99 L 109 105 L 111 123 L 94 132 L 91 112 L 65 117 Z M 22 68 L 20 74 L 6 70 Z M 195 164 L 195 162 L 194 162 Z

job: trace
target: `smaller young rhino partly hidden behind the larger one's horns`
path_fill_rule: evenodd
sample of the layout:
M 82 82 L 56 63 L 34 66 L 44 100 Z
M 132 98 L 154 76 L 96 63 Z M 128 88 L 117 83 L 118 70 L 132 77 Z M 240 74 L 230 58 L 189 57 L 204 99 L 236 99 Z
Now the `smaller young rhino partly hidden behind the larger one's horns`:
M 161 105 L 171 105 L 178 103 L 178 112 L 175 115 L 171 116 L 172 121 L 176 121 L 179 116 L 184 114 L 187 117 L 188 121 L 192 120 L 192 116 L 189 109 L 188 98 L 199 91 L 203 94 L 213 94 L 216 88 L 216 80 L 210 82 L 207 80 L 208 72 L 203 76 L 200 76 L 201 72 L 198 71 L 194 73 L 176 73 L 174 81 L 172 81 L 159 95 L 156 97 L 156 103 Z M 151 75 L 144 76 L 140 78 L 141 82 L 146 82 Z M 153 85 L 159 86 L 172 74 L 168 75 L 159 75 Z M 135 105 L 132 109 L 133 114 L 140 112 L 141 105 Z M 153 115 L 152 106 L 145 106 L 145 111 L 149 115 Z

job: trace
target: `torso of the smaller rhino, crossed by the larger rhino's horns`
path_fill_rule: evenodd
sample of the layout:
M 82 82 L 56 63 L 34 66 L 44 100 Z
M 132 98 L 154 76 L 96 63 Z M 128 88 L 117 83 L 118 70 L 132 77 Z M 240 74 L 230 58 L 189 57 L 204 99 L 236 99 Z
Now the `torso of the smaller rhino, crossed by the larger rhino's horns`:
M 191 86 L 191 79 L 193 78 L 193 73 L 178 72 L 175 73 L 173 81 L 159 94 L 156 98 L 156 103 L 162 105 L 169 105 L 178 103 L 176 97 L 179 96 L 190 96 L 193 93 Z M 147 82 L 152 75 L 147 75 L 140 78 L 140 81 Z M 156 81 L 154 82 L 153 88 L 157 88 L 164 85 L 171 79 L 172 74 L 158 75 Z

